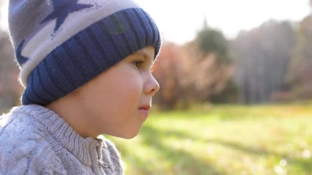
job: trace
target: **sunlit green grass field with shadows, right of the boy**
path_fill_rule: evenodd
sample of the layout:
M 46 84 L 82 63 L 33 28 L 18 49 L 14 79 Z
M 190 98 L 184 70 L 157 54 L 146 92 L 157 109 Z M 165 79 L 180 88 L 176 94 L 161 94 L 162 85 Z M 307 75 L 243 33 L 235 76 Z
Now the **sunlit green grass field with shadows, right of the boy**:
M 125 174 L 312 174 L 312 104 L 151 111 L 138 136 L 108 137 Z

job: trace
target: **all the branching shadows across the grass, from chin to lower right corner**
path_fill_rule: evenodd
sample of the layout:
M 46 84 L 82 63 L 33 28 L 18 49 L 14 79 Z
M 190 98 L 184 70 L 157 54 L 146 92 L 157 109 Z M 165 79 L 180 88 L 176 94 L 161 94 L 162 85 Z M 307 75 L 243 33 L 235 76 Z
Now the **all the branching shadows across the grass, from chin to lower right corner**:
M 219 145 L 227 146 L 232 149 L 237 149 L 246 154 L 257 155 L 257 156 L 274 156 L 278 159 L 285 159 L 288 162 L 288 166 L 295 166 L 295 169 L 300 170 L 302 173 L 312 173 L 312 160 L 311 159 L 300 159 L 293 158 L 286 154 L 279 154 L 276 151 L 267 150 L 264 148 L 248 147 L 242 143 L 231 142 L 222 139 L 204 139 L 198 135 L 193 135 L 187 132 L 180 132 L 176 130 L 159 130 L 150 125 L 144 125 L 141 129 L 140 136 L 142 137 L 143 144 L 153 147 L 161 152 L 161 155 L 168 161 L 172 162 L 173 166 L 178 165 L 178 170 L 173 169 L 167 170 L 174 174 L 226 174 L 225 172 L 216 170 L 213 165 L 205 160 L 196 158 L 185 150 L 174 149 L 173 147 L 164 145 L 162 138 L 166 137 L 177 137 L 179 140 L 191 139 L 195 142 L 216 143 Z M 131 154 L 131 150 L 120 147 L 122 152 L 126 155 Z M 203 153 L 204 154 L 204 153 Z M 166 170 L 151 170 L 147 168 L 147 163 L 138 157 L 131 156 L 131 159 L 135 162 L 136 167 L 143 174 L 167 174 Z

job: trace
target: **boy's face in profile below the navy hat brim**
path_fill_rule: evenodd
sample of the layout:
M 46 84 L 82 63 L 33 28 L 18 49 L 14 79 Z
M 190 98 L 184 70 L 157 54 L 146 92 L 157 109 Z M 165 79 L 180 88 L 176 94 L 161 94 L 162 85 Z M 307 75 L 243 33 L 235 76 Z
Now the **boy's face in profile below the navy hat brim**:
M 127 139 L 139 133 L 147 119 L 140 108 L 151 106 L 160 88 L 151 74 L 153 58 L 154 48 L 145 47 L 73 93 L 90 133 Z

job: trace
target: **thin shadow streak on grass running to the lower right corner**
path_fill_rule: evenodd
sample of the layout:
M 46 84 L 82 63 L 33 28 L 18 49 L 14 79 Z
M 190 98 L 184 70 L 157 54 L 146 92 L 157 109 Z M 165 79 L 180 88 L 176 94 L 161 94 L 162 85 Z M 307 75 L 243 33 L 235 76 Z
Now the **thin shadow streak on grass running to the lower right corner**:
M 206 140 L 208 143 L 217 143 L 224 146 L 228 146 L 231 148 L 235 148 L 244 152 L 247 152 L 248 154 L 254 154 L 254 155 L 264 155 L 264 156 L 275 156 L 279 157 L 280 159 L 285 159 L 289 164 L 295 165 L 297 168 L 300 168 L 304 173 L 311 174 L 312 173 L 312 160 L 311 159 L 298 159 L 298 158 L 291 158 L 288 155 L 285 154 L 279 154 L 275 151 L 268 151 L 266 149 L 257 149 L 252 147 L 243 146 L 241 144 L 235 143 L 235 142 L 228 142 L 221 139 L 208 139 Z

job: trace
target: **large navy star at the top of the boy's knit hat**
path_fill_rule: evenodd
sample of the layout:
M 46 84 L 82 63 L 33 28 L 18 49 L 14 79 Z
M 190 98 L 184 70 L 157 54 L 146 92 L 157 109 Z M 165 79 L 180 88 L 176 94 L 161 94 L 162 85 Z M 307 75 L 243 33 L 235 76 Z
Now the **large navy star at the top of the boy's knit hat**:
M 70 13 L 93 7 L 91 4 L 78 4 L 78 0 L 52 0 L 52 3 L 53 11 L 41 21 L 41 24 L 56 19 L 54 32 L 60 29 Z

